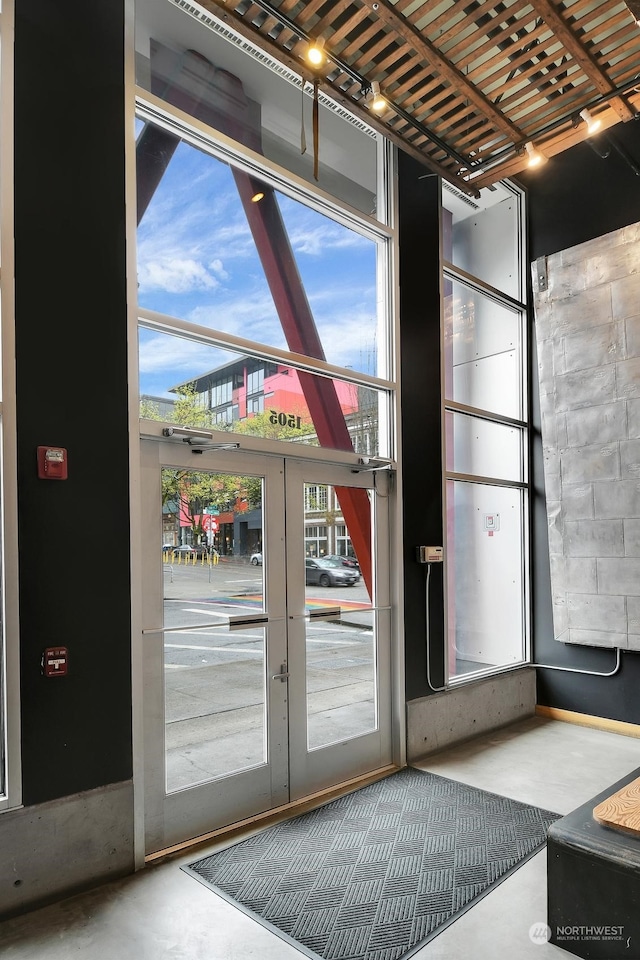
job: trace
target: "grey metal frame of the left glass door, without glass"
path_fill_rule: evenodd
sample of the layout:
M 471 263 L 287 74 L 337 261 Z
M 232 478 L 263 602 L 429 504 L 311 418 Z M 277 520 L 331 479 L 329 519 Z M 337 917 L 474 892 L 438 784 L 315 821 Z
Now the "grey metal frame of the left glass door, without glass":
M 144 751 L 144 806 L 145 849 L 157 853 L 160 849 L 185 841 L 184 826 L 189 824 L 193 838 L 212 829 L 211 794 L 215 784 L 215 803 L 224 819 L 243 820 L 279 806 L 288 800 L 286 770 L 287 730 L 283 723 L 283 710 L 276 701 L 286 701 L 286 685 L 265 681 L 265 731 L 269 744 L 268 762 L 246 768 L 242 773 L 203 782 L 201 785 L 165 790 L 165 742 L 164 742 L 164 637 L 162 622 L 157 622 L 164 606 L 162 529 L 158 523 L 161 504 L 161 469 L 164 464 L 185 467 L 190 470 L 217 472 L 216 463 L 203 458 L 196 459 L 194 450 L 173 444 L 167 447 L 155 441 L 141 442 L 141 490 L 142 519 L 147 531 L 145 538 L 146 559 L 142 571 L 142 629 L 139 642 L 144 659 L 143 693 L 143 751 Z M 237 472 L 264 474 L 265 526 L 266 521 L 277 529 L 284 525 L 284 497 L 278 494 L 275 474 L 280 472 L 279 461 L 255 454 L 222 453 L 224 464 L 219 472 L 229 471 L 229 465 L 237 466 Z M 284 540 L 275 538 L 273 545 L 275 562 L 284 564 Z M 278 591 L 265 595 L 265 606 L 270 609 L 268 621 L 269 642 L 265 643 L 265 676 L 278 673 L 285 656 L 286 621 L 282 600 Z M 162 617 L 161 617 L 162 619 Z M 265 636 L 266 636 L 265 618 Z M 244 789 L 237 786 L 243 781 Z

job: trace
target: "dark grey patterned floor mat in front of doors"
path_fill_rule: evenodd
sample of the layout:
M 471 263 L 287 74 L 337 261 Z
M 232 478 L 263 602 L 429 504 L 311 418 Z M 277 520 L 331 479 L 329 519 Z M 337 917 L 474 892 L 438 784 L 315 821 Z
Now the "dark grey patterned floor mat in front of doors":
M 399 960 L 524 863 L 559 816 L 407 767 L 182 869 L 308 956 Z

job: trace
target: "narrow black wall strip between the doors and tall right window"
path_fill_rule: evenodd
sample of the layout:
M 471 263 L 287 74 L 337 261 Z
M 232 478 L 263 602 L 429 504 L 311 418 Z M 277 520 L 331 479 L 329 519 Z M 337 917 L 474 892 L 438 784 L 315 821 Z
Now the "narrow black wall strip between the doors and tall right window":
M 400 363 L 402 377 L 403 535 L 407 699 L 430 692 L 427 682 L 426 566 L 416 546 L 444 538 L 440 420 L 440 185 L 404 153 L 398 159 Z M 442 565 L 429 581 L 430 677 L 442 684 Z

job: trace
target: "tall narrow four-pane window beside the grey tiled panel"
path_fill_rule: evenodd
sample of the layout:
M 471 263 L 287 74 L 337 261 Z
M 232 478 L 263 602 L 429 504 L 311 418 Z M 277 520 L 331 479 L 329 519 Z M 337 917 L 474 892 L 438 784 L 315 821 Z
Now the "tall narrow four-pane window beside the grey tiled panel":
M 443 190 L 444 456 L 450 680 L 527 656 L 523 197 Z

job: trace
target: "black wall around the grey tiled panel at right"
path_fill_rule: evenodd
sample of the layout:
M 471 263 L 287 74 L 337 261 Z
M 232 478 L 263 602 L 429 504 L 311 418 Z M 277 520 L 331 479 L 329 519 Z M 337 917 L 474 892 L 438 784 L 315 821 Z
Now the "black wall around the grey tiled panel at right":
M 598 138 L 599 156 L 586 143 L 554 157 L 520 178 L 527 187 L 531 260 L 557 253 L 640 221 L 640 123 L 619 124 Z M 626 159 L 625 159 L 626 158 Z M 533 655 L 537 663 L 609 673 L 612 650 L 576 647 L 553 637 L 540 412 L 537 396 L 535 330 L 532 330 L 533 385 Z M 538 671 L 538 702 L 578 713 L 640 723 L 640 654 L 621 654 L 612 677 L 569 671 Z

